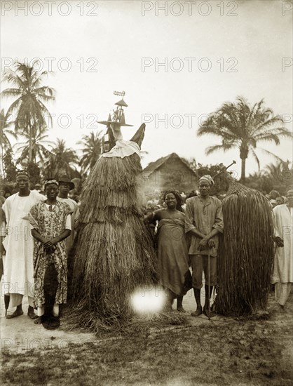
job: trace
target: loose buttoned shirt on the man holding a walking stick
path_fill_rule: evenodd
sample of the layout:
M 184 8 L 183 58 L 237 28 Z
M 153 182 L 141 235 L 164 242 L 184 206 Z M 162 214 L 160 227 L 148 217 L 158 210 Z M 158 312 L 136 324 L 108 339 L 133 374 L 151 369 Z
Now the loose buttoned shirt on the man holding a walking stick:
M 210 196 L 205 203 L 200 196 L 191 197 L 186 200 L 185 232 L 189 232 L 191 229 L 196 229 L 203 234 L 209 234 L 212 232 L 212 229 L 218 229 L 219 232 L 223 232 L 222 203 L 217 197 Z M 211 248 L 210 255 L 217 256 L 218 236 L 216 235 L 212 239 L 216 246 Z M 208 249 L 198 251 L 200 240 L 200 237 L 191 237 L 189 255 L 208 254 Z

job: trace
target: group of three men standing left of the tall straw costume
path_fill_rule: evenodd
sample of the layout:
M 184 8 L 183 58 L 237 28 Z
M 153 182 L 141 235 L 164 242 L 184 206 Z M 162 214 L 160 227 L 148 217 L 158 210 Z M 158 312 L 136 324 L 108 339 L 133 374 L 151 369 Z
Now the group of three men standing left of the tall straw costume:
M 74 184 L 67 176 L 46 180 L 43 195 L 29 189 L 26 171 L 17 173 L 16 184 L 18 192 L 1 208 L 6 318 L 23 314 L 26 295 L 27 314 L 36 319 L 34 323 L 56 328 L 60 325 L 59 306 L 67 301 L 67 256 L 79 219 L 79 206 L 68 197 Z M 9 306 L 16 308 L 7 315 Z

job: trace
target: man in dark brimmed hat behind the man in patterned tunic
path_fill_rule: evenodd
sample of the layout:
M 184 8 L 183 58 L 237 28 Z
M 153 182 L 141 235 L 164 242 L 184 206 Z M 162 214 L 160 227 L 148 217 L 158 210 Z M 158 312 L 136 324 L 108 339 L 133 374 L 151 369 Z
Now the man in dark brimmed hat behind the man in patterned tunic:
M 70 248 L 74 244 L 74 229 L 77 227 L 79 221 L 79 205 L 73 199 L 68 197 L 69 191 L 74 189 L 74 183 L 71 182 L 67 175 L 62 175 L 59 179 L 59 192 L 57 196 L 58 201 L 66 202 L 71 208 L 71 234 L 66 239 L 67 256 Z

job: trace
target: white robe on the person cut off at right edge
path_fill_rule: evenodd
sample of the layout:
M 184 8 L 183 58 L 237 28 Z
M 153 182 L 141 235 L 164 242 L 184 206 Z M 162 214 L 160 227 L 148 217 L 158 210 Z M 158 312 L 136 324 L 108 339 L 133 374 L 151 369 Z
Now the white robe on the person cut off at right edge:
M 284 240 L 283 247 L 277 247 L 273 267 L 272 283 L 293 283 L 293 208 L 286 204 L 273 208 L 275 237 Z

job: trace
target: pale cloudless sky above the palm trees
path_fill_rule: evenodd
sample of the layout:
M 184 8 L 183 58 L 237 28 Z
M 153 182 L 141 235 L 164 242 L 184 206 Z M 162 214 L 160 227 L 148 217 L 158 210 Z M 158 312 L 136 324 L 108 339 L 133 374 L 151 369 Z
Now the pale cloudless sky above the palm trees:
M 238 149 L 207 156 L 219 138 L 196 135 L 224 102 L 243 96 L 280 114 L 292 131 L 292 1 L 1 1 L 1 74 L 14 60 L 52 70 L 48 139 L 103 131 L 125 91 L 128 140 L 147 124 L 142 166 L 172 152 L 240 175 Z M 1 90 L 6 88 L 1 84 Z M 12 100 L 1 102 L 7 109 Z M 292 162 L 292 142 L 259 143 Z M 259 150 L 261 168 L 275 162 Z M 247 174 L 257 171 L 251 157 Z

